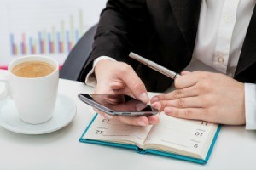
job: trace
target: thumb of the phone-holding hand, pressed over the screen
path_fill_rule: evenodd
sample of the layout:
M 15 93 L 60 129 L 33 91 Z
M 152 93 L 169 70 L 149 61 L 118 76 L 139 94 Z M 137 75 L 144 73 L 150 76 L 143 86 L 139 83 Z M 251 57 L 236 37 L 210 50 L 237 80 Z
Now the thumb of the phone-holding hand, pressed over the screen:
M 122 79 L 136 99 L 140 99 L 144 103 L 149 102 L 147 89 L 143 81 L 137 76 L 132 68 L 130 71 L 126 71 L 126 74 L 125 76 L 122 76 Z

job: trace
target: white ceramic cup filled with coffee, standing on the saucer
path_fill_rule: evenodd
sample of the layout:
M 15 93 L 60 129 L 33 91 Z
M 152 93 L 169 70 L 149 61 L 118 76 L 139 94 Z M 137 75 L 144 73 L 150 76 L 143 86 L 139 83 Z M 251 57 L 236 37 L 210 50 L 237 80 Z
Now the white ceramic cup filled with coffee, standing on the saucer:
M 44 62 L 54 67 L 54 71 L 44 77 L 20 77 L 12 70 L 16 65 L 26 62 Z M 49 121 L 55 110 L 58 92 L 59 65 L 49 57 L 32 55 L 20 57 L 9 63 L 8 74 L 0 78 L 5 89 L 0 92 L 0 100 L 13 99 L 20 119 L 31 124 Z

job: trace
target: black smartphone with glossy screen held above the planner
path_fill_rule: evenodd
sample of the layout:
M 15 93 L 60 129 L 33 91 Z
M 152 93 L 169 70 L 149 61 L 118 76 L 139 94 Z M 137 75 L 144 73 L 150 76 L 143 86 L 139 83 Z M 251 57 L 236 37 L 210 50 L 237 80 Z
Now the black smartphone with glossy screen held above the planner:
M 152 116 L 159 112 L 150 105 L 125 94 L 79 94 L 79 99 L 113 116 Z

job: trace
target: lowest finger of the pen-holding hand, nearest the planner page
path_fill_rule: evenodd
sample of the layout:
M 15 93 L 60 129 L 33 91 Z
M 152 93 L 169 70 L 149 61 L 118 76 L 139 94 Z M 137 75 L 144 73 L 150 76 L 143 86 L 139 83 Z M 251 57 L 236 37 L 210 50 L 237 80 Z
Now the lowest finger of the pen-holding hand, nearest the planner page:
M 205 114 L 204 109 L 202 108 L 186 108 L 179 109 L 175 107 L 166 107 L 166 115 L 174 116 L 183 119 L 193 119 L 193 120 L 206 120 L 207 114 Z

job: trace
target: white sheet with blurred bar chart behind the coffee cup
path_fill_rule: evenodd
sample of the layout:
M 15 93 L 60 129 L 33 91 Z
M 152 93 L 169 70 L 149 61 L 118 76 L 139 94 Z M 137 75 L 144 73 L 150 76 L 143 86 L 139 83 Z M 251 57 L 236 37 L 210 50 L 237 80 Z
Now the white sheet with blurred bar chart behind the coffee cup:
M 90 26 L 107 0 L 2 0 L 0 68 L 17 57 L 46 55 L 60 64 Z

